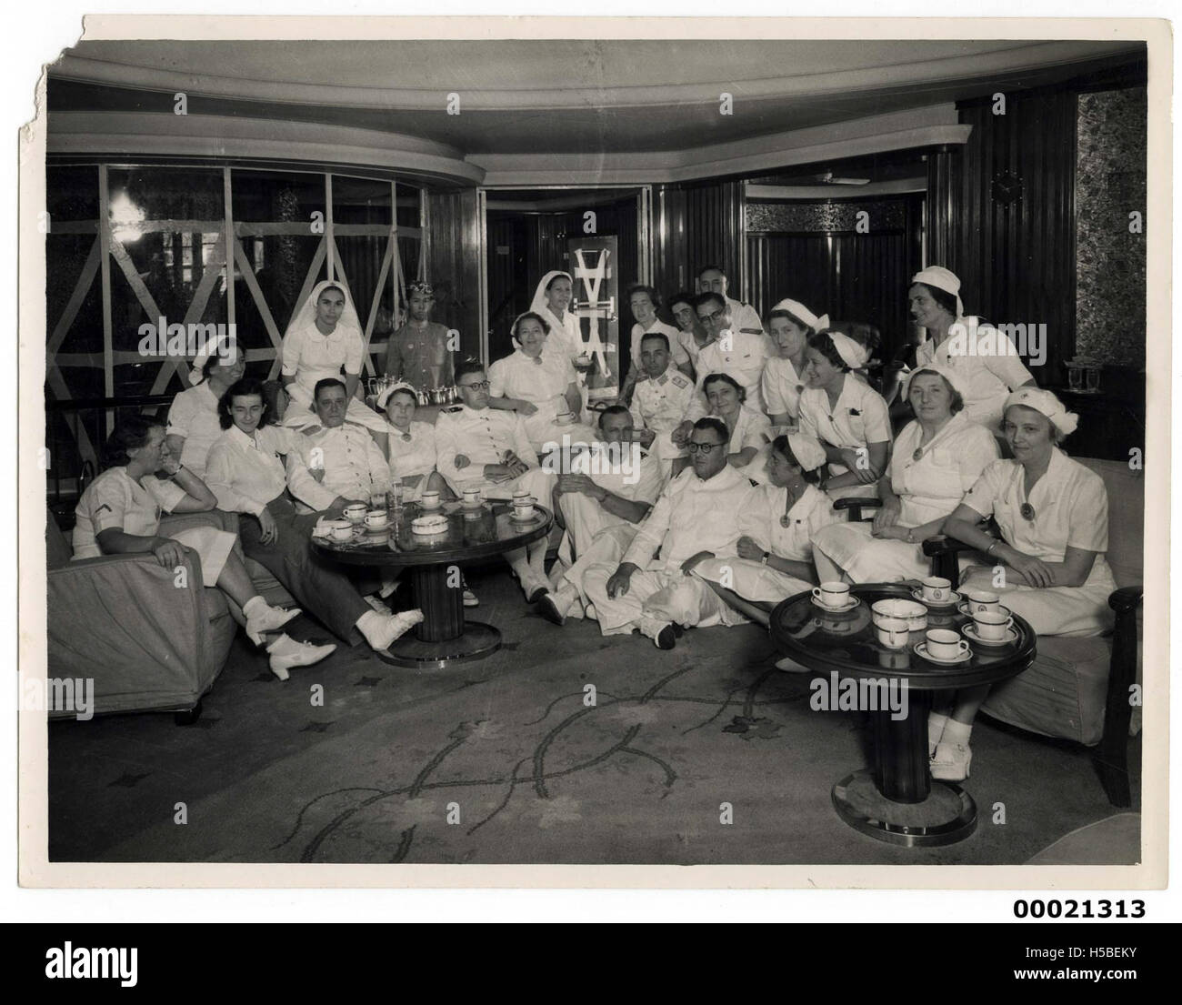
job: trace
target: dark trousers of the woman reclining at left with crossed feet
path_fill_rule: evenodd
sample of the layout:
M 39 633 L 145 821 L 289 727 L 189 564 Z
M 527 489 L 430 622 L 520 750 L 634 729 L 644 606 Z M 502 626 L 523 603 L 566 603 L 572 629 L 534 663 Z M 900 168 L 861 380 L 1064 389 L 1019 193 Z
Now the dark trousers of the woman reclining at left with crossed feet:
M 317 514 L 298 514 L 291 501 L 281 495 L 272 499 L 267 510 L 279 526 L 279 539 L 262 544 L 259 521 L 242 514 L 239 521 L 242 550 L 282 583 L 299 605 L 333 635 L 350 646 L 358 644 L 362 636 L 353 625 L 370 607 L 349 577 L 322 565 L 312 555 L 310 542 Z

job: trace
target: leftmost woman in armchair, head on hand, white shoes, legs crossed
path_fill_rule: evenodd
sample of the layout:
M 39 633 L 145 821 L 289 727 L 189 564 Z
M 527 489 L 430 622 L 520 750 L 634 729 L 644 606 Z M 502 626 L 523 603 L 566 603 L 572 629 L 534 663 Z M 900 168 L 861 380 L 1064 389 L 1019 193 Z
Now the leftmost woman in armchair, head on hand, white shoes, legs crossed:
M 230 611 L 251 641 L 259 646 L 269 638 L 267 654 L 277 676 L 286 677 L 288 668 L 314 663 L 337 648 L 298 643 L 275 634 L 300 612 L 299 608 L 273 608 L 259 596 L 234 551 L 234 534 L 216 527 L 160 534 L 162 510 L 207 513 L 217 505 L 206 484 L 169 453 L 160 422 L 141 415 L 121 419 L 104 454 L 109 467 L 86 487 L 74 510 L 76 559 L 150 552 L 163 568 L 175 569 L 184 562 L 187 550 L 196 552 L 202 582 L 216 584 L 234 602 Z

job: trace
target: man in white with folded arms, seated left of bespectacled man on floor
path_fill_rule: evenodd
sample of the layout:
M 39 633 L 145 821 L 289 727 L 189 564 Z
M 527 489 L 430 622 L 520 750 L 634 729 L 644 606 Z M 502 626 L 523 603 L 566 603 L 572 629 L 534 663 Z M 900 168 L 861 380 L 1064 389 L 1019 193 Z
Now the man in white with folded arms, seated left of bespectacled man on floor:
M 693 388 L 688 380 L 686 384 Z M 554 513 L 566 525 L 564 545 L 570 545 L 574 562 L 557 577 L 552 572 L 554 591 L 541 597 L 538 612 L 558 625 L 584 616 L 584 572 L 619 562 L 663 487 L 656 458 L 632 442 L 632 416 L 624 406 L 599 414 L 599 435 L 554 486 Z

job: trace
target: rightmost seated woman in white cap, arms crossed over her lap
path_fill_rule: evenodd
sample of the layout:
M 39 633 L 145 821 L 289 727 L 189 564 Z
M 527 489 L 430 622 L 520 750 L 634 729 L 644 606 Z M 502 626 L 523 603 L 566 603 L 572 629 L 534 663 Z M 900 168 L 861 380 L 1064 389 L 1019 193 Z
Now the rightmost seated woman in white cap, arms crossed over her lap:
M 1078 421 L 1050 391 L 1011 394 L 1002 430 L 1014 459 L 989 465 L 943 527 L 996 563 L 972 570 L 963 588 L 999 594 L 1038 635 L 1102 635 L 1112 628 L 1108 598 L 1116 582 L 1104 558 L 1108 492 L 1098 474 L 1059 449 Z M 1001 540 L 978 526 L 991 516 Z M 986 694 L 988 687 L 955 692 L 931 713 L 933 778 L 968 777 L 973 719 Z

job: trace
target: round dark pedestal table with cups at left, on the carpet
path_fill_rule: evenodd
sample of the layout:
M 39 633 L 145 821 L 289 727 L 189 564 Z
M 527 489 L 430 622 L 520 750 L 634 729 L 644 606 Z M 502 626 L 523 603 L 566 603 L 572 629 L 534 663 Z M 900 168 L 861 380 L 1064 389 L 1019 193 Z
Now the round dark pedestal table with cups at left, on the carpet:
M 411 521 L 422 516 L 444 517 L 446 530 L 415 533 Z M 409 569 L 423 621 L 377 656 L 395 666 L 442 669 L 480 660 L 501 647 L 496 628 L 465 618 L 463 563 L 525 547 L 546 537 L 553 523 L 544 506 L 534 506 L 531 519 L 518 520 L 507 502 L 486 501 L 472 508 L 447 502 L 429 513 L 408 502 L 390 511 L 384 531 L 358 529 L 348 542 L 312 538 L 312 550 L 343 565 Z

